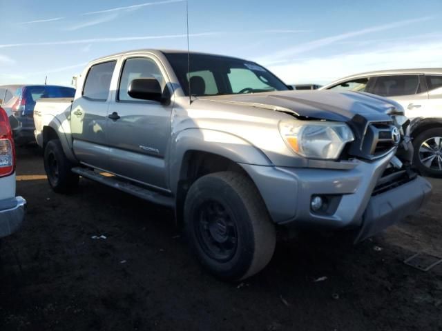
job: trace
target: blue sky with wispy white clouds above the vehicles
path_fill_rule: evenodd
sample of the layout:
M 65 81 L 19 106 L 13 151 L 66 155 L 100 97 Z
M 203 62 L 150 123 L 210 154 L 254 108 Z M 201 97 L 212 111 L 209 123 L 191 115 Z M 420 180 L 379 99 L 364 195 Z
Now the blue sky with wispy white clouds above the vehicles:
M 182 0 L 0 0 L 0 84 L 70 85 L 91 59 L 186 49 Z M 189 0 L 191 50 L 266 66 L 287 83 L 442 67 L 442 0 Z

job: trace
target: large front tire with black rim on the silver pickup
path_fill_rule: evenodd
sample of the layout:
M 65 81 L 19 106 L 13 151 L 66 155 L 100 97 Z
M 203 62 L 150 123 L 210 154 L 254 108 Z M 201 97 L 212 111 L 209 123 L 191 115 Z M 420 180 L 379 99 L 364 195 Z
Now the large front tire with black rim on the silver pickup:
M 216 172 L 191 186 L 184 203 L 189 245 L 222 280 L 240 281 L 271 260 L 275 227 L 255 185 L 237 172 Z

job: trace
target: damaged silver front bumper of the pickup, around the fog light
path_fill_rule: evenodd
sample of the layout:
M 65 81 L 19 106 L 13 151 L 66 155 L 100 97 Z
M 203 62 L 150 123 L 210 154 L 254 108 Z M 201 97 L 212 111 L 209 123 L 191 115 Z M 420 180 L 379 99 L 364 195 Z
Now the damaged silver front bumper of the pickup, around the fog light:
M 317 230 L 361 229 L 357 238 L 361 241 L 418 210 L 430 194 L 430 183 L 416 177 L 373 196 L 395 152 L 376 161 L 355 160 L 347 169 L 241 165 L 256 183 L 275 223 Z M 334 201 L 331 212 L 311 210 L 311 198 L 316 195 Z

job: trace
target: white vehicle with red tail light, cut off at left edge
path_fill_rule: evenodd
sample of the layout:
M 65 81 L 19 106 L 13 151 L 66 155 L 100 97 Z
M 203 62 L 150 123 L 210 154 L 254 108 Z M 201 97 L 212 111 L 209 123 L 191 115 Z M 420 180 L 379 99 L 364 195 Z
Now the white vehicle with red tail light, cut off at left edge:
M 26 201 L 15 197 L 15 149 L 6 111 L 0 108 L 0 238 L 15 232 Z

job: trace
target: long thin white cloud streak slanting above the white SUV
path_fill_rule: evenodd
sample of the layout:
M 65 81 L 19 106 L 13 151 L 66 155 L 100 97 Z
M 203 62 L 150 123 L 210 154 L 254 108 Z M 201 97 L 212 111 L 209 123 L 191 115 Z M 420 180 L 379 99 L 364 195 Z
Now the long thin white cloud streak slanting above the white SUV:
M 309 41 L 307 43 L 301 43 L 298 46 L 294 46 L 291 48 L 287 48 L 285 50 L 280 50 L 278 52 L 274 52 L 272 54 L 267 55 L 266 57 L 262 57 L 259 59 L 260 62 L 264 64 L 274 63 L 274 61 L 281 61 L 283 59 L 287 59 L 287 57 L 293 57 L 296 54 L 300 54 L 303 52 L 308 52 L 309 50 L 316 50 L 317 48 L 323 48 L 325 46 L 332 45 L 337 41 L 342 41 L 345 39 L 349 39 L 352 37 L 358 37 L 363 34 L 369 34 L 373 32 L 381 32 L 385 30 L 391 30 L 394 28 L 400 28 L 401 26 L 409 26 L 414 23 L 419 23 L 422 21 L 428 21 L 433 19 L 433 17 L 419 17 L 417 19 L 407 19 L 405 21 L 396 21 L 393 23 L 387 23 L 379 26 L 372 26 L 371 28 L 365 28 L 362 30 L 356 30 L 352 32 L 345 32 L 343 34 L 336 34 L 332 37 L 326 37 L 322 39 L 316 39 L 314 41 Z

